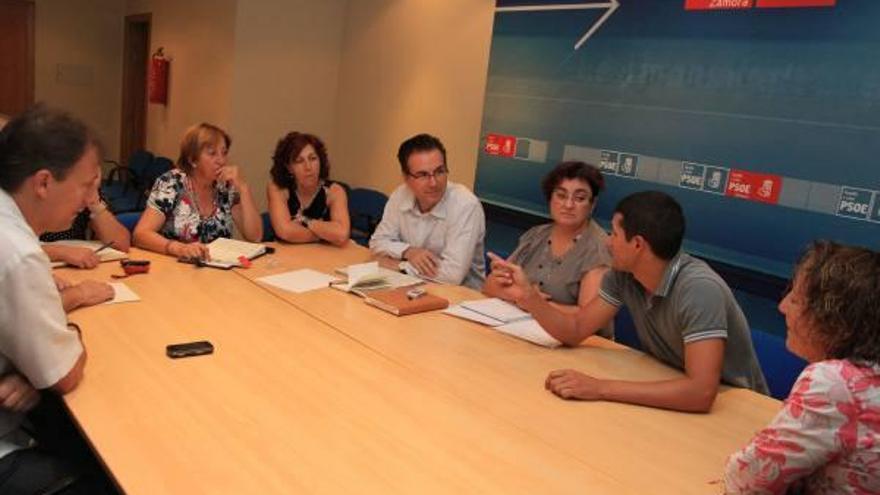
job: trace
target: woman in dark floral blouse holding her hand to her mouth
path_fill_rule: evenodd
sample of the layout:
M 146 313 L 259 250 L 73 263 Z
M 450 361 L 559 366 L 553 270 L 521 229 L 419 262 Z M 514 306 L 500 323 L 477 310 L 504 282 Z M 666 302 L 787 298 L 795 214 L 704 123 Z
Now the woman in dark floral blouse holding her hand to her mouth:
M 134 229 L 136 246 L 178 258 L 207 259 L 207 244 L 242 236 L 259 242 L 263 223 L 238 167 L 228 165 L 232 140 L 219 127 L 190 127 L 180 143 L 177 168 L 156 179 Z

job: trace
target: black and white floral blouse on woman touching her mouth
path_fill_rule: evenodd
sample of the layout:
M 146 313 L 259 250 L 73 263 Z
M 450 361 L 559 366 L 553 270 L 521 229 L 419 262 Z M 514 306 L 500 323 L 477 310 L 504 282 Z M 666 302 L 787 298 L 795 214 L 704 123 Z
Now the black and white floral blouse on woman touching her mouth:
M 165 215 L 160 234 L 180 242 L 209 243 L 218 237 L 232 237 L 232 207 L 238 195 L 225 183 L 215 183 L 214 211 L 201 216 L 189 178 L 180 170 L 169 170 L 153 184 L 147 206 Z

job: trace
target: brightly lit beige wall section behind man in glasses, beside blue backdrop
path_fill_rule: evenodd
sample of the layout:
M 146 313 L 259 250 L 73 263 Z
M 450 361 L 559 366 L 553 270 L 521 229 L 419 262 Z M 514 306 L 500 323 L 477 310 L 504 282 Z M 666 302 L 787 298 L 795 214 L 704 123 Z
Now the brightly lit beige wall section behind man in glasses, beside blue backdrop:
M 390 192 L 402 140 L 437 135 L 473 186 L 494 0 L 352 0 L 336 111 L 335 175 Z

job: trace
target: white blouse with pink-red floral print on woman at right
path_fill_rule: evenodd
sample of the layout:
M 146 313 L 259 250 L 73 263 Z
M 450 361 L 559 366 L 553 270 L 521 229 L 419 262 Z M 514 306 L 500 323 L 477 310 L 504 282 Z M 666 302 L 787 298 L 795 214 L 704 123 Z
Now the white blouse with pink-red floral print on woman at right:
M 829 360 L 804 369 L 773 422 L 728 459 L 724 485 L 725 493 L 880 493 L 880 366 Z

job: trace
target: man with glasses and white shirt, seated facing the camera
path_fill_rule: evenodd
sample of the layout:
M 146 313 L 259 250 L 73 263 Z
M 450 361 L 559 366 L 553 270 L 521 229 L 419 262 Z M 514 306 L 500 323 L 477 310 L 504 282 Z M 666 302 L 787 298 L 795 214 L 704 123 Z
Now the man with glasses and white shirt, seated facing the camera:
M 370 250 L 406 261 L 404 266 L 422 277 L 479 290 L 486 273 L 480 201 L 448 181 L 446 148 L 434 136 L 407 139 L 397 160 L 404 183 L 388 198 Z

